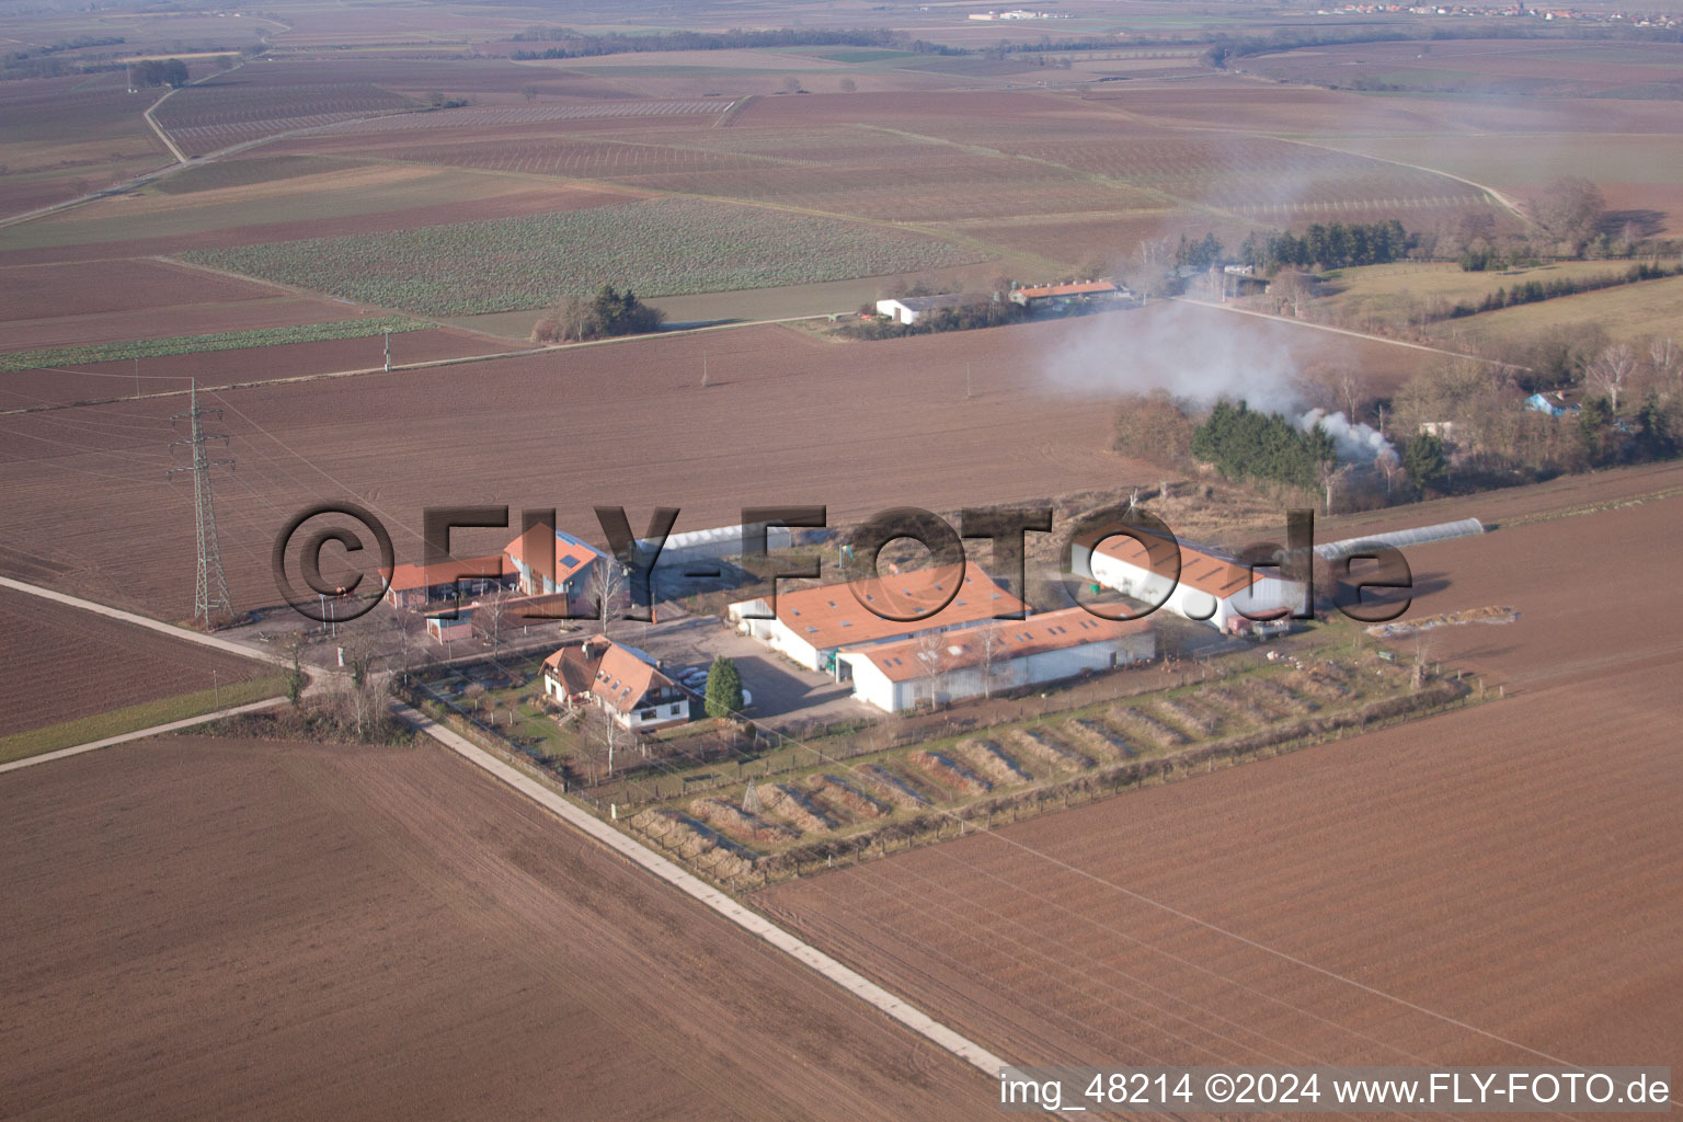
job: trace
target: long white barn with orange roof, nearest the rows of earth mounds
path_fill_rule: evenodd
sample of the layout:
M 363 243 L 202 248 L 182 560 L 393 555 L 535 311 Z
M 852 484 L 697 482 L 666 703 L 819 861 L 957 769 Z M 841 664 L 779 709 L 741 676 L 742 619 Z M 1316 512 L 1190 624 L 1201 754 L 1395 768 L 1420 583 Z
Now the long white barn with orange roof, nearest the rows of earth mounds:
M 996 621 L 838 656 L 853 696 L 889 713 L 996 690 L 1075 678 L 1156 656 L 1148 619 L 1101 619 L 1084 607 Z

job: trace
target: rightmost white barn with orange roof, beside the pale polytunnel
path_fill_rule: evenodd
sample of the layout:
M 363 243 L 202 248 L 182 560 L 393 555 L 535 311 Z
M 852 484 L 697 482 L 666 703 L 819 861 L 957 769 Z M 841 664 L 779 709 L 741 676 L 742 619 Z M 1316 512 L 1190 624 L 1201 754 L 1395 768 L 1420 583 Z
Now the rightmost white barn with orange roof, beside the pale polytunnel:
M 1303 604 L 1301 580 L 1287 580 L 1277 569 L 1252 570 L 1187 542 L 1178 543 L 1180 579 L 1173 580 L 1171 543 L 1163 538 L 1151 542 L 1149 550 L 1126 535 L 1102 538 L 1097 548 L 1091 542 L 1077 542 L 1070 562 L 1075 572 L 1080 572 L 1082 562 L 1091 565 L 1092 579 L 1107 589 L 1148 604 L 1161 601 L 1163 609 L 1220 631 L 1249 626 L 1252 621 L 1244 612 L 1262 616 Z

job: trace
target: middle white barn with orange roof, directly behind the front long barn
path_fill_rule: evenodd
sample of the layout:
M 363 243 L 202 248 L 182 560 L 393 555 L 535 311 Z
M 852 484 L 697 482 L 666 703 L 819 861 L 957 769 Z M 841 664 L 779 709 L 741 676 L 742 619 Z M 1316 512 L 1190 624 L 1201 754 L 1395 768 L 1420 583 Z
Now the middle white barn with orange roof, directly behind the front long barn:
M 934 607 L 953 599 L 934 616 L 916 621 L 884 619 L 873 607 L 909 616 L 917 606 Z M 751 619 L 764 614 L 764 599 L 741 601 L 725 614 L 730 622 L 808 669 L 847 680 L 847 663 L 836 659 L 842 649 L 858 649 L 914 636 L 974 627 L 995 616 L 1023 611 L 1023 602 L 996 585 L 974 565 L 939 565 L 911 574 L 885 575 L 879 580 L 826 584 L 815 589 L 778 592 L 776 619 Z

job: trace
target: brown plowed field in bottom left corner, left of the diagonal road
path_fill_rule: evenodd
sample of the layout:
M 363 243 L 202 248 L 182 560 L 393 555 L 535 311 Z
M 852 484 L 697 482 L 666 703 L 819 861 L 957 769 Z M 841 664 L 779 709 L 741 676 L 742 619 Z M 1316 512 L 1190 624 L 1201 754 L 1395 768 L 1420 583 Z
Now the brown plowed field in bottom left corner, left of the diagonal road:
M 974 1119 L 985 1077 L 456 757 L 3 777 L 0 1115 Z

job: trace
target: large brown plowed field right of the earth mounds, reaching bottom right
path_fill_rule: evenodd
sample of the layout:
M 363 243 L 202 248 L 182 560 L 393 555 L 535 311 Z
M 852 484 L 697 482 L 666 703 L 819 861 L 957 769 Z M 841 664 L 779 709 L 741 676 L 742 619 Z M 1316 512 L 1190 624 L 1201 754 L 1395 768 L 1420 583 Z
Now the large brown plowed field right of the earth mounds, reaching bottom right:
M 1419 550 L 1516 696 L 762 893 L 1005 1055 L 1659 1063 L 1683 1048 L 1676 503 Z

